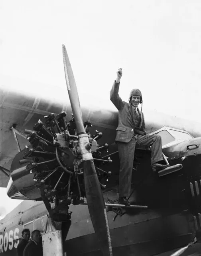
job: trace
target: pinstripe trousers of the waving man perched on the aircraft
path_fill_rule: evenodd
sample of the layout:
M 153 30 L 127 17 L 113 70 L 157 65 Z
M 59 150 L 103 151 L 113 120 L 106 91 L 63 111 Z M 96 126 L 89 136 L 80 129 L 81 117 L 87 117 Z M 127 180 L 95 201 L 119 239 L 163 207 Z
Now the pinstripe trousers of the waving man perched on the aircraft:
M 163 160 L 160 135 L 134 135 L 128 143 L 118 142 L 120 158 L 119 197 L 130 196 L 135 148 L 151 148 L 151 165 Z

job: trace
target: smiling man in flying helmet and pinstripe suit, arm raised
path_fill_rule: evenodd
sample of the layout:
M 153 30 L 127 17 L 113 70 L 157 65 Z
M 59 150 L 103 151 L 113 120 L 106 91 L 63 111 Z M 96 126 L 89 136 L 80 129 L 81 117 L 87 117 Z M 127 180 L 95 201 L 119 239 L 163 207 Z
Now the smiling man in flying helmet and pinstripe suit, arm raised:
M 165 171 L 169 165 L 163 159 L 160 135 L 146 135 L 144 115 L 142 109 L 141 111 L 138 109 L 138 105 L 142 103 L 140 90 L 133 89 L 130 92 L 129 103 L 122 101 L 118 95 L 121 77 L 122 70 L 119 69 L 117 79 L 110 91 L 110 100 L 118 109 L 118 127 L 115 142 L 118 143 L 120 158 L 119 204 L 129 206 L 130 202 L 126 197 L 130 196 L 135 148 L 150 147 L 153 171 Z

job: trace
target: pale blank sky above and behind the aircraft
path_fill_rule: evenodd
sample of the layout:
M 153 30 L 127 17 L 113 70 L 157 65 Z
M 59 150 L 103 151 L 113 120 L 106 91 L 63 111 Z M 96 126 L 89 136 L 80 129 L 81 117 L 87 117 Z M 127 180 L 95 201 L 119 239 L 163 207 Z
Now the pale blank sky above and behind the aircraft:
M 137 87 L 145 109 L 201 122 L 201 1 L 0 1 L 0 75 L 64 88 L 63 43 L 81 95 L 112 108 L 122 68 L 123 100 Z

